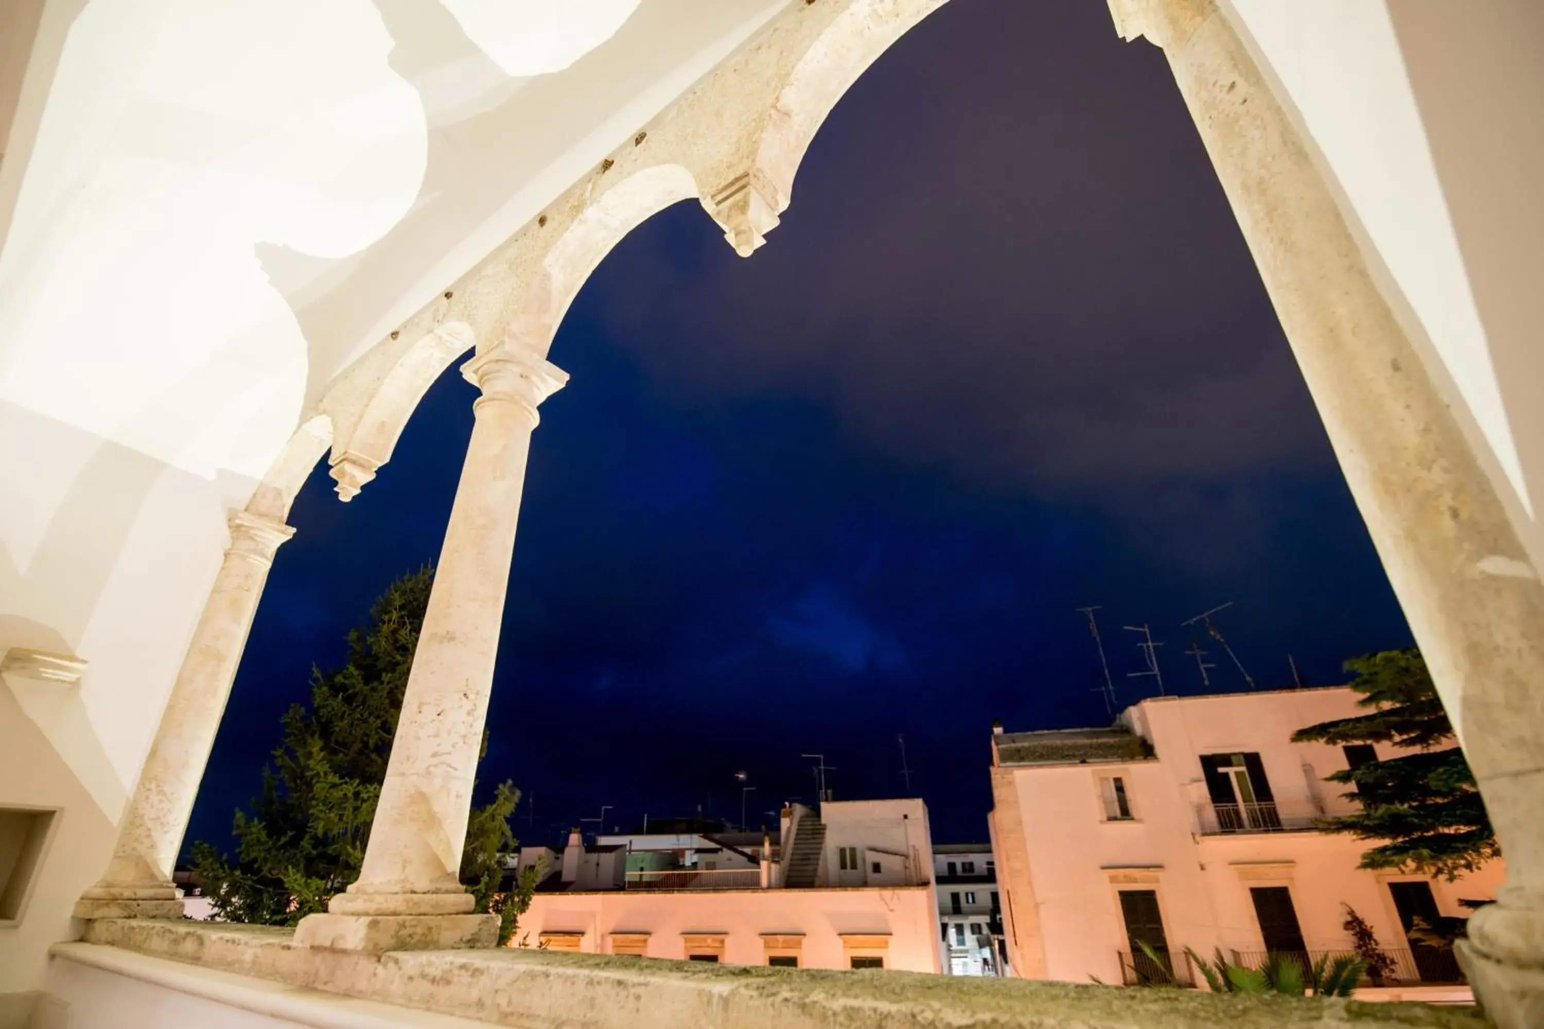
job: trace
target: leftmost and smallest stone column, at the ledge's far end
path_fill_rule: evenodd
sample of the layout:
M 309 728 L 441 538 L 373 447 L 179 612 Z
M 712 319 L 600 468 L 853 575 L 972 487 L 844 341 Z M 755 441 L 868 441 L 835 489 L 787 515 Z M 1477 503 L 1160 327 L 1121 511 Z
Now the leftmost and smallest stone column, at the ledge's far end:
M 171 884 L 171 870 L 273 552 L 293 534 L 279 521 L 230 512 L 230 549 L 124 811 L 113 859 L 76 902 L 76 918 L 182 918 L 182 893 Z

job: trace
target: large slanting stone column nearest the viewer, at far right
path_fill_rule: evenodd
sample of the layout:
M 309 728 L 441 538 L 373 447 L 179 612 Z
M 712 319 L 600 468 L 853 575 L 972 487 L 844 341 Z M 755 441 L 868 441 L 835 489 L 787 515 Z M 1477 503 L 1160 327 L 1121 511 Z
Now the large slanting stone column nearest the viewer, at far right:
M 1370 273 L 1297 127 L 1215 0 L 1112 0 L 1164 49 L 1507 861 L 1461 956 L 1502 1029 L 1544 1026 L 1544 586 Z

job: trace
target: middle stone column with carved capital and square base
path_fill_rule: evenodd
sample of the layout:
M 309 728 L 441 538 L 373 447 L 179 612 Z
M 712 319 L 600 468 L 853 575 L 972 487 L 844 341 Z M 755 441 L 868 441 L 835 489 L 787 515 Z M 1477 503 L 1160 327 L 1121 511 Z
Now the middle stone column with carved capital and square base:
M 536 407 L 567 383 L 511 344 L 462 367 L 483 395 L 403 697 L 360 878 L 295 941 L 344 950 L 493 946 L 496 915 L 472 915 L 460 884 L 514 529 Z

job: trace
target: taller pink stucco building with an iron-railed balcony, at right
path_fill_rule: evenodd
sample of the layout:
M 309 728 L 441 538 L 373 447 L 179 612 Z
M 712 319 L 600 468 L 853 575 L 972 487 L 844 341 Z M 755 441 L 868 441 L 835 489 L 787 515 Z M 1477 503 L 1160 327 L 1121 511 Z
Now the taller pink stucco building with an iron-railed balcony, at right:
M 1180 978 L 1186 947 L 1246 961 L 1349 950 L 1351 907 L 1394 960 L 1391 980 L 1454 981 L 1451 953 L 1411 946 L 1407 929 L 1493 898 L 1501 862 L 1458 882 L 1360 870 L 1371 844 L 1312 827 L 1356 805 L 1323 778 L 1366 751 L 1291 736 L 1359 713 L 1356 699 L 1343 687 L 1153 697 L 1112 728 L 997 727 L 990 821 L 1013 972 L 1138 981 L 1138 941 Z

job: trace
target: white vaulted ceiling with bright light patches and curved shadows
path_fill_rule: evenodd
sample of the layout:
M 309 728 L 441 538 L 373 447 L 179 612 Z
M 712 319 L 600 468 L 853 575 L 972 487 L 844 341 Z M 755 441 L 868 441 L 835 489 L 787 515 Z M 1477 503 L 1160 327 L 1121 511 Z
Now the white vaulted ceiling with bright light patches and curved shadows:
M 0 165 L 0 403 L 261 477 L 338 370 L 783 3 L 48 0 Z

